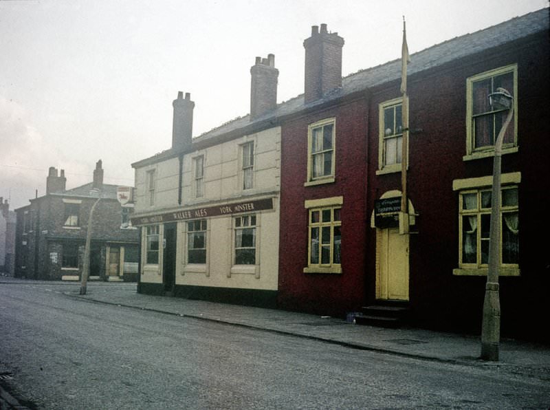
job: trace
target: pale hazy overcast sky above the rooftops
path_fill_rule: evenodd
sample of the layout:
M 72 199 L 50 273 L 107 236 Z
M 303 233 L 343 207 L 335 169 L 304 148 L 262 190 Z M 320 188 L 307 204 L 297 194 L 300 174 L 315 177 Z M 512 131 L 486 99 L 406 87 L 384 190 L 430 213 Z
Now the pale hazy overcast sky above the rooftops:
M 0 197 L 133 185 L 131 164 L 170 148 L 172 102 L 195 101 L 193 136 L 250 112 L 250 67 L 275 55 L 278 102 L 304 91 L 303 41 L 327 23 L 342 75 L 548 7 L 547 0 L 0 0 Z M 414 58 L 410 64 L 414 64 Z

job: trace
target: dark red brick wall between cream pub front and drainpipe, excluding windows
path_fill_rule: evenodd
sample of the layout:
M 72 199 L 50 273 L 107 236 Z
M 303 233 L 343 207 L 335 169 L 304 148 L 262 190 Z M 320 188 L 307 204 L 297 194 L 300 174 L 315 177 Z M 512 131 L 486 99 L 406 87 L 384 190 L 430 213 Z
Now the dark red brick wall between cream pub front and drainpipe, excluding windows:
M 336 117 L 336 182 L 304 186 L 308 125 Z M 366 240 L 366 100 L 360 99 L 285 122 L 281 143 L 279 305 L 317 314 L 344 314 L 364 300 Z M 306 199 L 343 196 L 342 274 L 304 273 Z

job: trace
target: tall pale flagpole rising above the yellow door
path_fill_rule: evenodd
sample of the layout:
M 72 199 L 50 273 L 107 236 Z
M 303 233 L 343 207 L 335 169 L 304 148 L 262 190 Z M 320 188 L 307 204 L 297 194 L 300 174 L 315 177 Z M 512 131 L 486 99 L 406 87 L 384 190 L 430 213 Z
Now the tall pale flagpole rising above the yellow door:
M 408 200 L 407 200 L 407 162 L 408 162 L 408 95 L 407 95 L 407 63 L 410 61 L 406 38 L 405 17 L 403 16 L 403 45 L 401 46 L 401 219 L 400 233 L 408 233 Z

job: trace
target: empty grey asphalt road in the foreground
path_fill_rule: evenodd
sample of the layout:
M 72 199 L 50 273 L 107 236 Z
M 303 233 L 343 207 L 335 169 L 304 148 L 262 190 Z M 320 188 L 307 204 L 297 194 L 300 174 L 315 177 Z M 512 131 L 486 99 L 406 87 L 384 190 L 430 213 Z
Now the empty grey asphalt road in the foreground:
M 113 283 L 91 283 L 109 292 Z M 102 288 L 99 288 L 102 287 Z M 39 409 L 548 409 L 548 383 L 0 283 L 0 374 Z

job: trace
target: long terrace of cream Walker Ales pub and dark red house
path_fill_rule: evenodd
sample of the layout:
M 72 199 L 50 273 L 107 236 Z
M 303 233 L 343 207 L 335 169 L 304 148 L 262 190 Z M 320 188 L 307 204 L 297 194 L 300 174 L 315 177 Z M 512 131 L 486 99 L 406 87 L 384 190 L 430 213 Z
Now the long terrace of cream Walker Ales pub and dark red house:
M 550 285 L 548 39 L 543 9 L 434 45 L 410 56 L 404 94 L 403 59 L 342 78 L 344 38 L 322 24 L 303 43 L 304 94 L 277 105 L 260 58 L 251 114 L 198 138 L 180 95 L 173 147 L 133 164 L 140 290 L 478 332 L 511 113 L 502 332 L 548 338 L 525 319 L 547 311 Z M 503 89 L 511 111 L 489 103 Z

